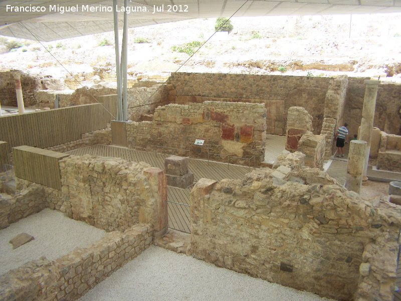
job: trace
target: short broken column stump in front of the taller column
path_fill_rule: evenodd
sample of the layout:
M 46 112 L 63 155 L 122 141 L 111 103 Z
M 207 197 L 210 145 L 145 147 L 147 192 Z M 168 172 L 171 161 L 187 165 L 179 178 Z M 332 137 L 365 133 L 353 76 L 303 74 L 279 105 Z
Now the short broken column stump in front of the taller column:
M 366 141 L 351 140 L 349 145 L 347 179 L 345 188 L 360 193 L 362 185 L 363 167 L 365 165 Z

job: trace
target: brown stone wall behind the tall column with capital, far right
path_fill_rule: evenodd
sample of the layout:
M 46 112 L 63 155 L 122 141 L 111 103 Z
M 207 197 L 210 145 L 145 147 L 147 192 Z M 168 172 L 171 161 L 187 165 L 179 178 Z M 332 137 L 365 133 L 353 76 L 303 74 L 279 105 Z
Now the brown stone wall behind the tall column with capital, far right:
M 362 120 L 365 85 L 369 77 L 349 77 L 348 92 L 344 109 L 344 122 L 348 123 L 350 136 L 358 132 Z M 395 135 L 401 135 L 401 85 L 381 83 L 377 87 L 376 109 L 373 126 Z

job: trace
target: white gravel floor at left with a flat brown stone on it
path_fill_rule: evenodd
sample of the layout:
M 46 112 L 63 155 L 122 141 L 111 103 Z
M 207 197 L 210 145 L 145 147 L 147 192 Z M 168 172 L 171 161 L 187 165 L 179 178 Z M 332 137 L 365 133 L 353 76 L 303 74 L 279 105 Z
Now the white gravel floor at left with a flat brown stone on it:
M 35 239 L 13 250 L 9 241 L 23 232 Z M 77 247 L 88 246 L 106 234 L 104 230 L 70 219 L 61 212 L 44 209 L 0 230 L 0 274 L 41 256 L 57 259 Z

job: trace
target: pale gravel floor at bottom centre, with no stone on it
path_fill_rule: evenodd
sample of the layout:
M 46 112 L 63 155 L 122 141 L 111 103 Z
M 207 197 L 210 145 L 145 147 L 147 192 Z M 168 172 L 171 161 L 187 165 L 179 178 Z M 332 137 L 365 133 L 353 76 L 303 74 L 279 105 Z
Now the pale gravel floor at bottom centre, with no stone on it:
M 79 301 L 329 300 L 151 246 Z

